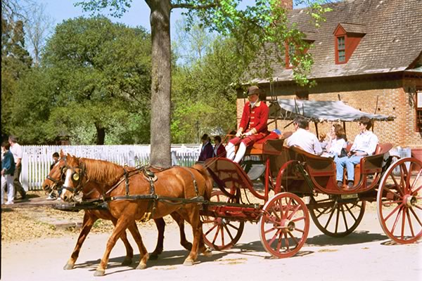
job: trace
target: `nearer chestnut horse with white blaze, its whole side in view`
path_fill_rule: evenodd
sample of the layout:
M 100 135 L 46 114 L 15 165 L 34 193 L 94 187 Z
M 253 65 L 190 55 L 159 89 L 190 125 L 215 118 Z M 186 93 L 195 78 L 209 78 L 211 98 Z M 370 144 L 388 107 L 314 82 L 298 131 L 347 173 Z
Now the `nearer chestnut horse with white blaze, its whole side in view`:
M 141 240 L 139 232 L 132 227 L 136 220 L 145 218 L 150 213 L 152 218 L 162 218 L 176 211 L 193 230 L 193 244 L 191 252 L 184 261 L 184 265 L 193 265 L 198 251 L 210 255 L 203 243 L 202 223 L 200 221 L 200 204 L 186 201 L 194 197 L 210 198 L 212 179 L 203 166 L 195 165 L 192 168 L 174 166 L 160 171 L 157 181 L 148 180 L 143 173 L 127 173 L 122 166 L 87 158 L 77 158 L 68 155 L 65 183 L 60 195 L 63 200 L 70 201 L 78 192 L 90 192 L 86 185 L 90 181 L 101 183 L 96 185 L 98 191 L 108 201 L 110 213 L 117 218 L 117 224 L 106 246 L 106 252 L 96 269 L 96 276 L 104 275 L 110 251 L 118 237 L 129 228 L 134 240 L 138 244 L 141 260 L 136 269 L 146 268 L 148 253 Z M 127 176 L 121 177 L 122 173 Z M 117 184 L 115 184 L 118 181 Z M 150 197 L 148 197 L 150 195 Z M 151 200 L 151 195 L 158 200 Z M 146 198 L 149 198 L 147 200 Z M 161 199 L 161 200 L 160 200 Z M 182 202 L 185 200 L 185 202 Z

